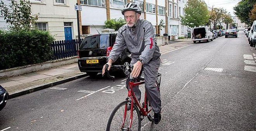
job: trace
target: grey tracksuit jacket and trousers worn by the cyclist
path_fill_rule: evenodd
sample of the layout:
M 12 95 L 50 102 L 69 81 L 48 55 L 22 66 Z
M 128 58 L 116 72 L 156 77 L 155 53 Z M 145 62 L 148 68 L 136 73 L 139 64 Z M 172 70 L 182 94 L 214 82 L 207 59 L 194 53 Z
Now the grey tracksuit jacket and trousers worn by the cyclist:
M 144 19 L 138 19 L 135 28 L 123 25 L 118 30 L 116 42 L 109 54 L 109 59 L 116 61 L 119 54 L 127 47 L 131 52 L 131 65 L 135 64 L 138 59 L 143 60 L 143 71 L 145 79 L 145 90 L 147 98 L 155 113 L 161 111 L 161 99 L 159 89 L 155 87 L 158 67 L 160 66 L 159 47 L 155 42 L 155 32 L 152 24 Z M 141 93 L 137 88 L 133 88 L 138 100 Z

